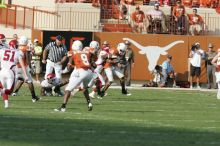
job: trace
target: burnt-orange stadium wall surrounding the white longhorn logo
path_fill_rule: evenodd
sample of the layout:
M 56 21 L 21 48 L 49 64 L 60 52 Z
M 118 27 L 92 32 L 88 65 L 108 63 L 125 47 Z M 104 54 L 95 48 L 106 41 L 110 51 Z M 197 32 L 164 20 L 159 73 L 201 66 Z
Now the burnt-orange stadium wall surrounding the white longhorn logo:
M 179 35 L 159 35 L 159 34 L 125 34 L 125 33 L 94 33 L 94 39 L 103 42 L 107 40 L 111 47 L 116 47 L 119 42 L 123 41 L 123 38 L 129 38 L 138 42 L 141 46 L 146 48 L 143 52 L 147 50 L 150 56 L 153 56 L 152 60 L 159 55 L 159 59 L 156 64 L 162 64 L 166 59 L 165 52 L 173 56 L 172 65 L 175 71 L 178 73 L 178 81 L 188 81 L 188 56 L 190 53 L 191 45 L 193 43 L 199 42 L 201 48 L 207 51 L 208 43 L 214 44 L 214 49 L 220 48 L 220 37 L 214 36 L 179 36 Z M 176 41 L 179 41 L 176 42 Z M 182 43 L 181 43 L 182 41 Z M 167 51 L 161 51 L 163 47 L 176 42 L 174 46 L 169 48 Z M 158 49 L 159 51 L 155 51 Z M 149 61 L 146 54 L 140 54 L 140 49 L 135 45 L 131 45 L 131 48 L 135 53 L 135 67 L 132 69 L 132 80 L 149 80 L 151 75 L 149 71 Z M 152 50 L 151 50 L 152 49 Z M 151 51 L 149 51 L 151 50 Z M 155 61 L 154 61 L 155 62 Z M 152 64 L 152 61 L 151 61 Z M 206 82 L 206 71 L 203 61 L 201 82 Z

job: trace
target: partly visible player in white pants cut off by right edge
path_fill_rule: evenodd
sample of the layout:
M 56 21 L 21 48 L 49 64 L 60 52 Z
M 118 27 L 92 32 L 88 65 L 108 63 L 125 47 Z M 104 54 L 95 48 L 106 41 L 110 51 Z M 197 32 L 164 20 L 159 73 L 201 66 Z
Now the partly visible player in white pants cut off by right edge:
M 216 67 L 216 83 L 218 84 L 217 99 L 220 99 L 220 49 L 218 54 L 212 59 L 212 64 Z

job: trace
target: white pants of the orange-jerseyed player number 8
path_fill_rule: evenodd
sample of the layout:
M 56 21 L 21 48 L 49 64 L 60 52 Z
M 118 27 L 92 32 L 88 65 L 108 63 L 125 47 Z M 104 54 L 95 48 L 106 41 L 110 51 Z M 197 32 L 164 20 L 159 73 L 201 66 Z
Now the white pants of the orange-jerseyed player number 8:
M 83 88 L 88 87 L 88 83 L 92 79 L 92 71 L 90 69 L 74 69 L 71 73 L 69 84 L 66 86 L 65 90 L 73 91 L 76 89 L 80 84 Z

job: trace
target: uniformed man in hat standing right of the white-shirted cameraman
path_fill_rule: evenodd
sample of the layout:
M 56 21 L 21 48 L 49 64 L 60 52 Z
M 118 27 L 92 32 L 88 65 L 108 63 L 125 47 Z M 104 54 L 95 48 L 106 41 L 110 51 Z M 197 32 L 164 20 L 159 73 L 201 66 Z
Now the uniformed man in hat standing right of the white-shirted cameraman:
M 213 84 L 214 89 L 217 89 L 217 85 L 215 82 L 216 81 L 216 77 L 215 77 L 216 67 L 212 64 L 212 59 L 217 55 L 217 52 L 213 50 L 213 47 L 214 46 L 211 43 L 208 44 L 208 51 L 206 52 L 206 58 L 205 58 L 208 89 L 211 89 L 211 84 Z

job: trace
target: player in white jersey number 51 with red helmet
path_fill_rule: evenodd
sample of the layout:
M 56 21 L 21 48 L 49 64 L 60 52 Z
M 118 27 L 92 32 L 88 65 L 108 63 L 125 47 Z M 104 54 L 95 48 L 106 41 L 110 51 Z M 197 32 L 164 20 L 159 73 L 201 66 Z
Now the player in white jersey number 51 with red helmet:
M 25 81 L 28 80 L 27 72 L 24 67 L 24 62 L 19 50 L 17 50 L 17 41 L 9 42 L 10 48 L 4 47 L 0 49 L 0 81 L 1 94 L 5 103 L 5 108 L 8 108 L 8 95 L 12 93 L 15 85 L 15 68 L 17 63 L 21 64 L 24 72 Z

